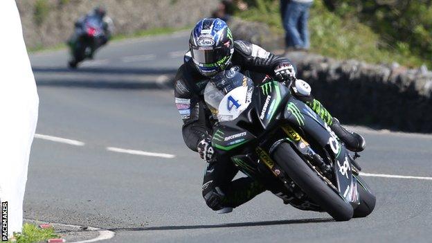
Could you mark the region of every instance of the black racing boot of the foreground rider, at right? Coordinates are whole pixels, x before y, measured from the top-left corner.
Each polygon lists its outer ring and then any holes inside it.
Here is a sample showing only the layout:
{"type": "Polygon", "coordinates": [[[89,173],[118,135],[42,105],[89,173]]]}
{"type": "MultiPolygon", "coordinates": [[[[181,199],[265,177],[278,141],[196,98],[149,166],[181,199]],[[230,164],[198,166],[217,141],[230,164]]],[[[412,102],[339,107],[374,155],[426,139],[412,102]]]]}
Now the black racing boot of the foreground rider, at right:
{"type": "Polygon", "coordinates": [[[351,150],[352,152],[361,152],[365,149],[366,140],[363,138],[363,136],[346,129],[345,127],[342,127],[338,119],[333,118],[330,128],[333,130],[336,136],[341,138],[348,150],[351,150]]]}

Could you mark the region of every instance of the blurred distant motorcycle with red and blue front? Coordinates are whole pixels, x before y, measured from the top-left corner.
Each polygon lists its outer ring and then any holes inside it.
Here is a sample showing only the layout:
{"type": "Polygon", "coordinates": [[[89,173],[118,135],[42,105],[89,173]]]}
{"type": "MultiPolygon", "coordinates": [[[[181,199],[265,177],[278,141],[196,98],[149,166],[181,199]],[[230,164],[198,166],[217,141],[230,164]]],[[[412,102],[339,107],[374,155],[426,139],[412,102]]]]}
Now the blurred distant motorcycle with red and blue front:
{"type": "Polygon", "coordinates": [[[94,51],[107,42],[103,22],[96,17],[87,17],[83,24],[76,26],[75,31],[78,38],[69,43],[71,51],[69,67],[73,69],[86,58],[93,58],[94,51]]]}

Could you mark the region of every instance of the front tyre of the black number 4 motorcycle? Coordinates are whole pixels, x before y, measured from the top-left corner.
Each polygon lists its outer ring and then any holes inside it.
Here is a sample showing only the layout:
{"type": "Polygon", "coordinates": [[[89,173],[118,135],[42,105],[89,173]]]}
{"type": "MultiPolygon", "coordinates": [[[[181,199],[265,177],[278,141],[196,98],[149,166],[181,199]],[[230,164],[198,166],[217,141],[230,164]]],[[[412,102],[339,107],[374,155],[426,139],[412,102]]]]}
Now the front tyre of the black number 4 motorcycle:
{"type": "Polygon", "coordinates": [[[352,218],[352,206],[327,186],[291,145],[281,143],[273,152],[273,157],[288,176],[336,221],[347,221],[352,218]]]}

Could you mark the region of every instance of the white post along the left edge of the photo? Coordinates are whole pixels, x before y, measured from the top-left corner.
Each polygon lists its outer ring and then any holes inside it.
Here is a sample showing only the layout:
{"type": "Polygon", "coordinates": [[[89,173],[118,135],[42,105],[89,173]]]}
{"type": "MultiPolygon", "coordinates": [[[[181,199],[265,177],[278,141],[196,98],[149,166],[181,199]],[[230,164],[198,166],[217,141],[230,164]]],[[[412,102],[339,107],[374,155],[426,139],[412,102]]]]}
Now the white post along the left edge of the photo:
{"type": "Polygon", "coordinates": [[[1,233],[7,228],[11,237],[13,232],[22,230],[28,159],[39,97],[14,0],[0,0],[0,31],[1,233]],[[4,227],[5,208],[8,227],[4,227]]]}

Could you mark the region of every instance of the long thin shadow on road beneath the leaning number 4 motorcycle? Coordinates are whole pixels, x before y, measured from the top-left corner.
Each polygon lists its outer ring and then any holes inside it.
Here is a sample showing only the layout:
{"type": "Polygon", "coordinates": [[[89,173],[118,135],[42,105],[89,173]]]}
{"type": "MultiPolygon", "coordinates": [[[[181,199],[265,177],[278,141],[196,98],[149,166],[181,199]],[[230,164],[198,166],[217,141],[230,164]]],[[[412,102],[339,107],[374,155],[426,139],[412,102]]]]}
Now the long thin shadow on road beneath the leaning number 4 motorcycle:
{"type": "Polygon", "coordinates": [[[183,229],[199,229],[199,228],[234,228],[234,227],[249,227],[249,226],[269,226],[280,224],[311,224],[333,222],[332,218],[317,218],[317,219],[289,219],[276,221],[260,221],[260,222],[243,222],[233,224],[206,224],[206,225],[181,225],[181,226],[156,226],[156,227],[137,227],[137,228],[109,228],[109,231],[173,231],[183,229]]]}

